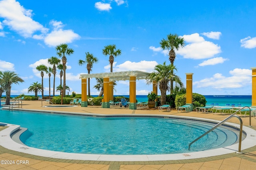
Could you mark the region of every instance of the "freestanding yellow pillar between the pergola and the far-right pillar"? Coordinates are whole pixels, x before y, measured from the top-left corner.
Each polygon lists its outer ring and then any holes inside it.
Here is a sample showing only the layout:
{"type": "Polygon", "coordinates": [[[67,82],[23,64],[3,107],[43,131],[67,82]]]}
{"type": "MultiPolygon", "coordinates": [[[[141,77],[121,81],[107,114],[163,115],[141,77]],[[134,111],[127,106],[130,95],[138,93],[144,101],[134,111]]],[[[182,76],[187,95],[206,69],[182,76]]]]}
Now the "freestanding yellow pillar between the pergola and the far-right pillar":
{"type": "Polygon", "coordinates": [[[192,102],[192,78],[193,73],[186,73],[186,105],[190,106],[190,111],[193,110],[192,102]]]}

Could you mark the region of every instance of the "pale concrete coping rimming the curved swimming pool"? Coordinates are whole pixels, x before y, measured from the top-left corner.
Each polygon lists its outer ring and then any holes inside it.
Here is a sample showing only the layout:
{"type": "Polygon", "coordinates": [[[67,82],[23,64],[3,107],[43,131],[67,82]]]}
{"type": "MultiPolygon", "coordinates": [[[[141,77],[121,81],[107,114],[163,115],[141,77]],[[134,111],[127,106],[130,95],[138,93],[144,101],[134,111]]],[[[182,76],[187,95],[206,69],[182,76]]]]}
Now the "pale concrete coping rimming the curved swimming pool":
{"type": "MultiPolygon", "coordinates": [[[[18,110],[26,110],[26,111],[39,111],[46,113],[61,113],[61,114],[69,114],[69,115],[87,115],[87,116],[98,116],[98,117],[177,117],[184,119],[194,119],[194,120],[204,120],[209,122],[220,122],[213,119],[204,119],[204,118],[196,118],[196,117],[183,117],[183,116],[174,116],[174,115],[138,115],[138,114],[114,114],[114,115],[102,115],[95,113],[77,113],[77,112],[63,112],[63,111],[42,111],[42,110],[31,110],[31,109],[18,109],[18,110]]],[[[7,123],[6,123],[7,124],[7,123]]],[[[230,126],[239,127],[238,124],[227,122],[230,126]]],[[[19,143],[14,142],[10,134],[14,131],[17,131],[20,126],[8,124],[8,128],[0,131],[0,145],[6,149],[14,150],[17,152],[22,152],[26,154],[32,154],[36,156],[43,156],[48,158],[56,158],[56,159],[71,159],[71,160],[84,160],[84,161],[167,161],[167,160],[189,160],[189,159],[198,159],[198,158],[206,158],[211,156],[220,156],[224,154],[235,153],[238,149],[238,143],[228,146],[222,147],[218,149],[206,150],[206,151],[198,151],[198,152],[188,152],[182,154],[156,154],[156,155],[104,155],[104,154],[77,154],[77,153],[66,153],[66,152],[57,152],[43,149],[36,149],[32,147],[28,147],[25,145],[21,145],[19,143]]],[[[250,147],[256,146],[256,131],[251,129],[250,127],[243,126],[243,131],[246,132],[247,137],[242,141],[241,150],[248,149],[250,147]]]]}

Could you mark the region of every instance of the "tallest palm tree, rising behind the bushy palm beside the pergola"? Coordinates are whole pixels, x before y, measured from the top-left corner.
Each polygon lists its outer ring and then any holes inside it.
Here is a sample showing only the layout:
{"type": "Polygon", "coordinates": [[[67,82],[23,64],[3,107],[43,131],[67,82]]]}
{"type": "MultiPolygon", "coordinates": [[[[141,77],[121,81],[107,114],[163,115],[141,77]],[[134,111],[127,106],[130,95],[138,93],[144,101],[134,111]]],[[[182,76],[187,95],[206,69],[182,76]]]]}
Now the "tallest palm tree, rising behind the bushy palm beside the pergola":
{"type": "MultiPolygon", "coordinates": [[[[168,55],[169,55],[169,60],[171,62],[171,65],[173,66],[174,64],[174,60],[176,58],[176,53],[175,53],[175,49],[178,51],[180,49],[180,47],[184,47],[185,42],[184,42],[184,38],[179,37],[177,34],[169,34],[167,35],[167,39],[162,39],[162,41],[160,42],[161,48],[162,49],[168,49],[170,50],[168,55]]],[[[173,72],[171,72],[170,74],[174,74],[173,72]]],[[[171,94],[173,92],[173,81],[171,80],[171,94]]]]}

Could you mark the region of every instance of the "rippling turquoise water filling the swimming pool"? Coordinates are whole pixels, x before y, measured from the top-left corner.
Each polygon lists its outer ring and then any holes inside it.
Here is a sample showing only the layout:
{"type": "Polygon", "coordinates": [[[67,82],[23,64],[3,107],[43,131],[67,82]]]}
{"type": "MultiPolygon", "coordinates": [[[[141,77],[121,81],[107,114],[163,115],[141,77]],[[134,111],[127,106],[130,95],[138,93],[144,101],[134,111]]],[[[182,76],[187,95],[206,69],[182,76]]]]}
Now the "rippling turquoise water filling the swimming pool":
{"type": "Polygon", "coordinates": [[[0,110],[0,121],[28,128],[21,141],[34,148],[86,154],[173,154],[225,147],[235,130],[220,127],[191,146],[214,124],[185,119],[88,117],[0,110]]]}

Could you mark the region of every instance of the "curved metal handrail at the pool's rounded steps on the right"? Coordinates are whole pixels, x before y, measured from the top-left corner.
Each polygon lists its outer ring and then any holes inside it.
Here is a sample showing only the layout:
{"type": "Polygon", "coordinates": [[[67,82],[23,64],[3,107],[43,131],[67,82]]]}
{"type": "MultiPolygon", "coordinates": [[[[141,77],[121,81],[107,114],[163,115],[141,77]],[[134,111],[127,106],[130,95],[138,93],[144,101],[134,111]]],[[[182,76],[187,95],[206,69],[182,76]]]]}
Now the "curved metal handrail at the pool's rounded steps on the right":
{"type": "MultiPolygon", "coordinates": [[[[244,106],[241,109],[239,109],[238,111],[241,111],[244,108],[247,108],[248,106],[244,106]]],[[[249,113],[250,113],[250,125],[251,126],[251,108],[249,108],[249,113]]],[[[222,125],[223,123],[225,123],[226,121],[228,121],[229,119],[231,119],[232,117],[237,117],[240,121],[240,132],[239,132],[239,143],[238,143],[238,154],[241,154],[241,143],[242,143],[242,131],[243,131],[243,121],[242,119],[238,116],[235,115],[238,111],[236,111],[235,113],[233,113],[232,115],[230,115],[229,117],[227,117],[226,119],[224,119],[223,121],[221,121],[220,123],[218,123],[217,125],[215,125],[214,127],[212,127],[212,129],[208,130],[206,133],[204,133],[203,135],[201,135],[200,137],[196,138],[194,141],[192,141],[189,145],[188,145],[188,150],[190,150],[190,146],[195,143],[196,141],[198,141],[199,139],[201,139],[202,137],[204,137],[205,135],[207,135],[208,133],[210,133],[211,131],[213,131],[214,129],[216,129],[217,127],[219,127],[220,125],[222,125]]]]}

